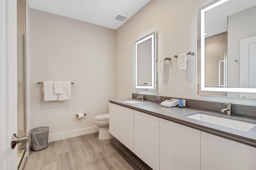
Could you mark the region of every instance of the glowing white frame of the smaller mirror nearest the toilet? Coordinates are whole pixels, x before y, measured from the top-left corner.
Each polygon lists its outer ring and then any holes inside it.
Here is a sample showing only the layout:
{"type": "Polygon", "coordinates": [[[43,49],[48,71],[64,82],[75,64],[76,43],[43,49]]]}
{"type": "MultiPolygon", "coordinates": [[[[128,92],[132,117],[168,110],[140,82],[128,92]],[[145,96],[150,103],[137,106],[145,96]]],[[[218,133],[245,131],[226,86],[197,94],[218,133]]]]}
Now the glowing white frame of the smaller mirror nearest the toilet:
{"type": "Polygon", "coordinates": [[[152,91],[156,91],[156,31],[153,31],[151,33],[149,33],[148,35],[145,35],[144,37],[136,40],[134,42],[134,65],[135,65],[135,90],[146,90],[146,89],[151,89],[152,91]],[[152,86],[138,86],[138,75],[137,75],[137,67],[138,67],[138,63],[137,63],[137,59],[138,59],[138,49],[137,46],[138,44],[148,40],[148,39],[152,39],[151,43],[151,67],[152,67],[152,71],[151,71],[151,83],[152,86]]]}

